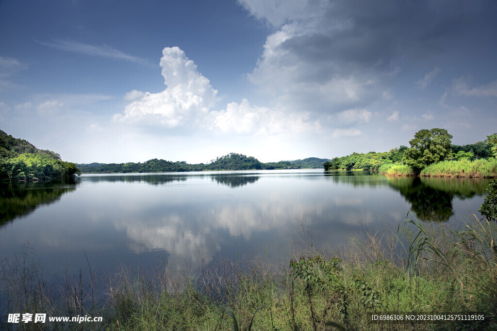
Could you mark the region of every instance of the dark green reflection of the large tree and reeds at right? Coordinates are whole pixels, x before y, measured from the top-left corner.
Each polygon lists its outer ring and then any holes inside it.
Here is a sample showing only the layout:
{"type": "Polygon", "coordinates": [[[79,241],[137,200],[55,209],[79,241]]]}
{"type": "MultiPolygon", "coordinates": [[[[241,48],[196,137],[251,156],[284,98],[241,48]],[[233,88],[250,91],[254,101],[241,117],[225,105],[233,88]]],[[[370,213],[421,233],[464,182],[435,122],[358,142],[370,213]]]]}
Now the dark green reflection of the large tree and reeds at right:
{"type": "Polygon", "coordinates": [[[454,215],[452,200],[482,196],[490,180],[476,178],[387,177],[390,186],[411,203],[423,221],[447,221],[454,215]]]}

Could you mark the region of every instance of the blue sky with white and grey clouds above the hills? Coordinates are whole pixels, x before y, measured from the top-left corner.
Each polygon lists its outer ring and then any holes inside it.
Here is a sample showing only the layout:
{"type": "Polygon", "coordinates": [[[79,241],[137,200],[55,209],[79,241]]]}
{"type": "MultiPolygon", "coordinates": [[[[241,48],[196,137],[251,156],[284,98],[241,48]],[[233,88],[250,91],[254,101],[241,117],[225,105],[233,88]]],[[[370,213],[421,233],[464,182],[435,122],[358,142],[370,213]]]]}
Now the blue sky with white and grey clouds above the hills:
{"type": "Polygon", "coordinates": [[[497,132],[495,0],[0,0],[0,129],[75,163],[497,132]]]}

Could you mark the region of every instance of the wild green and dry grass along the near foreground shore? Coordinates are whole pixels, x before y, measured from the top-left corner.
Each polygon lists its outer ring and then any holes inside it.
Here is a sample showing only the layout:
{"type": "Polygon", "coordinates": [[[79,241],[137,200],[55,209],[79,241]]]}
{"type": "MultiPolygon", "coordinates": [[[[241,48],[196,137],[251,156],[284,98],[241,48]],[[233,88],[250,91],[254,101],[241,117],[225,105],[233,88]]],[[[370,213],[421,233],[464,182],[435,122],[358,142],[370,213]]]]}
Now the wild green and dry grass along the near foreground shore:
{"type": "MultiPolygon", "coordinates": [[[[47,330],[428,330],[432,322],[380,323],[371,314],[477,312],[484,321],[452,329],[497,328],[497,225],[471,219],[460,229],[413,217],[387,234],[353,238],[341,250],[316,250],[302,227],[289,262],[219,260],[200,270],[122,267],[102,276],[64,277],[47,290],[27,247],[3,262],[8,312],[103,316],[100,324],[45,324],[47,330]],[[328,328],[328,329],[327,329],[328,328]]],[[[19,324],[21,330],[41,325],[19,324]]],[[[36,328],[35,328],[36,327],[36,328]]],[[[0,329],[12,324],[2,317],[0,329]]],[[[42,328],[40,328],[42,329],[42,328]]]]}

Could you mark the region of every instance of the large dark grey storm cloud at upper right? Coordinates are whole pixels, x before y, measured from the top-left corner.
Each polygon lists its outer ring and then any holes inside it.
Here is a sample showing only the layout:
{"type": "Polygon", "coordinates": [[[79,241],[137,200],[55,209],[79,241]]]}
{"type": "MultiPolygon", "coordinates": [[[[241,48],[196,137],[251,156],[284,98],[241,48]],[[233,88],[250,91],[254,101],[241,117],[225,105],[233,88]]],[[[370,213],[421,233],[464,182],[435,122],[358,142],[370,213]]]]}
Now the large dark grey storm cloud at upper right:
{"type": "Polygon", "coordinates": [[[488,41],[496,2],[247,0],[252,14],[279,29],[249,79],[288,108],[365,107],[390,96],[397,66],[433,68],[441,65],[430,63],[435,57],[464,63],[495,51],[488,41]]]}

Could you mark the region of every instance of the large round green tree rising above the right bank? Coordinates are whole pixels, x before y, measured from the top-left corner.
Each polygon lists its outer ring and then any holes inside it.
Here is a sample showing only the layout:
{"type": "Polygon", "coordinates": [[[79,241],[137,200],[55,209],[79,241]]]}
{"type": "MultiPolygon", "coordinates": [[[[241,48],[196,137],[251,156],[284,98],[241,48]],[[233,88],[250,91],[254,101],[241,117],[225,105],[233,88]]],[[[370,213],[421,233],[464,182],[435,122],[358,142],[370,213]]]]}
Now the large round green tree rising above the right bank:
{"type": "Polygon", "coordinates": [[[406,164],[419,174],[427,165],[445,160],[451,153],[452,134],[445,129],[422,129],[409,141],[411,148],[404,152],[406,164]]]}

